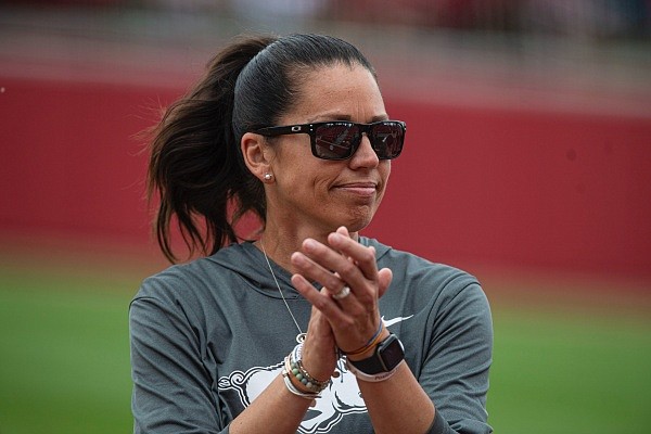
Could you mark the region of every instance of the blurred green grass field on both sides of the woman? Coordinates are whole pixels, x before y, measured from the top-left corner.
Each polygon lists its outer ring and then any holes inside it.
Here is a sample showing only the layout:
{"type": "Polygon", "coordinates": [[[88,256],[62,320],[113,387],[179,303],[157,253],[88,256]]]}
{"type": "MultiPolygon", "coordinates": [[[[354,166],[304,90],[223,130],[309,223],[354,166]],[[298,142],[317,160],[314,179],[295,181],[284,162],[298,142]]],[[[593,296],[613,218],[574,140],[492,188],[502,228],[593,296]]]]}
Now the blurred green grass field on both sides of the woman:
{"type": "MultiPolygon", "coordinates": [[[[144,276],[84,268],[0,266],[0,434],[131,431],[127,307],[144,276]]],[[[648,311],[493,307],[496,433],[650,432],[648,311]]]]}

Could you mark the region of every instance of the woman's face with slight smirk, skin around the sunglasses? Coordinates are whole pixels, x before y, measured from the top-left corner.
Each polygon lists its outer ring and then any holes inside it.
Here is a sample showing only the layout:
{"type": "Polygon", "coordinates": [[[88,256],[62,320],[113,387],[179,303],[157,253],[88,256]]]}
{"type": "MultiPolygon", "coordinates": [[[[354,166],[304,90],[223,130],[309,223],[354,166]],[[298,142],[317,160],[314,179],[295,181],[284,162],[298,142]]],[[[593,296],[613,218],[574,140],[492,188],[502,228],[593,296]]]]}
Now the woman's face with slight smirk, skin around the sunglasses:
{"type": "MultiPolygon", "coordinates": [[[[278,125],[387,118],[371,73],[360,65],[337,64],[308,75],[301,98],[278,125]]],[[[345,161],[314,156],[308,135],[280,136],[271,150],[276,182],[267,191],[268,222],[323,233],[342,225],[352,232],[369,225],[384,195],[391,162],[378,158],[366,135],[345,161]]]]}

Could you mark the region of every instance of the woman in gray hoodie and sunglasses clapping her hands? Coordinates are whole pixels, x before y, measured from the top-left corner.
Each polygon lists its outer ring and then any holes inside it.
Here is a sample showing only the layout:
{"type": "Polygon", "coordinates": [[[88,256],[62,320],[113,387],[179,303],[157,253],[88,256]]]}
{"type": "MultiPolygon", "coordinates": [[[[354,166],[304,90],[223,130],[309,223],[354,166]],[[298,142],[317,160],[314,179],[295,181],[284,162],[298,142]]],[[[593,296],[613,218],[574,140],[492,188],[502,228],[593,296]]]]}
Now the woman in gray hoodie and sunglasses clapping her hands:
{"type": "Polygon", "coordinates": [[[235,40],[168,108],[158,242],[174,261],[174,217],[208,256],[131,303],[137,433],[492,432],[477,281],[359,235],[405,130],[363,55],[316,35],[235,40]]]}

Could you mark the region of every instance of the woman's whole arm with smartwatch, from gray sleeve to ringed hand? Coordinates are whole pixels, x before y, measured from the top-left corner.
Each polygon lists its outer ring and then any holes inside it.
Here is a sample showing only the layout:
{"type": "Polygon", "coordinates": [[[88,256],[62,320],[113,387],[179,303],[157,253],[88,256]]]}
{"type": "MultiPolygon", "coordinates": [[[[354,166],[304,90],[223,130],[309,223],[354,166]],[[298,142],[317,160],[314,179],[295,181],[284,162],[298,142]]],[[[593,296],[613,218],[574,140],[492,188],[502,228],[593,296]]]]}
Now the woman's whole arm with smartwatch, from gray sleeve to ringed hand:
{"type": "MultiPolygon", "coordinates": [[[[372,247],[344,237],[330,237],[329,246],[309,244],[304,244],[302,254],[293,257],[301,273],[334,289],[340,289],[343,280],[353,294],[344,303],[337,303],[331,296],[309,291],[307,279],[301,276],[294,277],[294,285],[328,318],[340,348],[363,345],[374,330],[369,323],[376,324],[373,322],[380,315],[376,301],[386,291],[391,272],[386,278],[387,270],[374,270],[372,247]]],[[[375,432],[490,432],[484,410],[490,365],[490,315],[478,285],[471,286],[465,293],[482,296],[455,297],[454,303],[445,307],[446,311],[432,314],[435,322],[432,327],[436,327],[437,332],[432,333],[427,359],[419,369],[418,379],[403,363],[395,375],[385,381],[358,380],[375,432]],[[463,408],[465,405],[468,409],[463,408]],[[439,413],[439,406],[451,423],[439,413]]],[[[356,357],[368,356],[370,354],[356,357]]]]}

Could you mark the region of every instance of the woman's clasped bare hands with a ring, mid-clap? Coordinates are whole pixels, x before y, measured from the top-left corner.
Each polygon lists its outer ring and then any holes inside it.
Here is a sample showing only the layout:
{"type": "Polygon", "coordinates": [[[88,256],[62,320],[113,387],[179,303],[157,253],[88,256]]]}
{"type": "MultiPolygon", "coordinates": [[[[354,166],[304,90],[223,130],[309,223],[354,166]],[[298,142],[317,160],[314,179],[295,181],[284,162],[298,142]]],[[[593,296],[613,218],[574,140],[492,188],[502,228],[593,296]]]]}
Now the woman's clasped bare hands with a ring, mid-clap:
{"type": "Polygon", "coordinates": [[[292,284],[312,305],[304,362],[317,378],[330,376],[337,349],[363,347],[380,327],[378,301],[392,271],[378,270],[375,248],[358,243],[345,227],[328,235],[328,245],[306,239],[291,260],[296,270],[292,284]],[[321,291],[315,291],[312,281],[321,291]]]}

